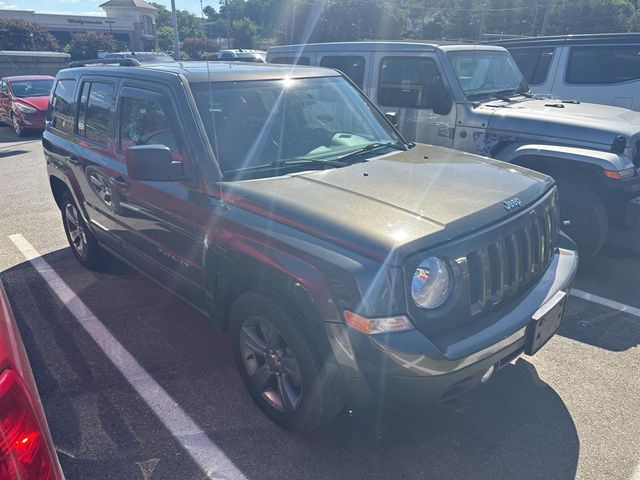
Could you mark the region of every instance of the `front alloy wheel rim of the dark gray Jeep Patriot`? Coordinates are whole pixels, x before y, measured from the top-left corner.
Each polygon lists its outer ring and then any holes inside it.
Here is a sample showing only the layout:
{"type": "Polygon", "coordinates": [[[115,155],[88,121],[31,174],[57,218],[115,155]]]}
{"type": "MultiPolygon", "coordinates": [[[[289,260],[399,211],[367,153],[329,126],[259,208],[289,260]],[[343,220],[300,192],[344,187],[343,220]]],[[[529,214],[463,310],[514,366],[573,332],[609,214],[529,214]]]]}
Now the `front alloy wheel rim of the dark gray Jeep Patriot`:
{"type": "Polygon", "coordinates": [[[251,384],[281,412],[302,403],[300,366],[282,333],[266,318],[249,317],[240,330],[240,349],[251,384]]]}

